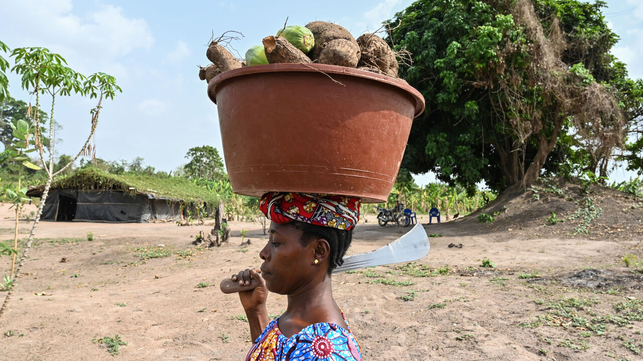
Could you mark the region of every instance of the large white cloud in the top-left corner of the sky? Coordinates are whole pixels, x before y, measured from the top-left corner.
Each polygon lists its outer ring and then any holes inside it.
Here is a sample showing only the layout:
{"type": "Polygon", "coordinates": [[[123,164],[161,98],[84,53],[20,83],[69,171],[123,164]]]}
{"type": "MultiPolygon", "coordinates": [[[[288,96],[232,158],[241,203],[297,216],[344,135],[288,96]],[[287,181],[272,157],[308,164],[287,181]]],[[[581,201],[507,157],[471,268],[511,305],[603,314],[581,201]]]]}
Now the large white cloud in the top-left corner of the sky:
{"type": "Polygon", "coordinates": [[[69,0],[10,1],[3,4],[0,24],[9,46],[46,46],[83,73],[103,71],[132,50],[154,44],[144,19],[129,18],[113,5],[80,17],[69,0]]]}

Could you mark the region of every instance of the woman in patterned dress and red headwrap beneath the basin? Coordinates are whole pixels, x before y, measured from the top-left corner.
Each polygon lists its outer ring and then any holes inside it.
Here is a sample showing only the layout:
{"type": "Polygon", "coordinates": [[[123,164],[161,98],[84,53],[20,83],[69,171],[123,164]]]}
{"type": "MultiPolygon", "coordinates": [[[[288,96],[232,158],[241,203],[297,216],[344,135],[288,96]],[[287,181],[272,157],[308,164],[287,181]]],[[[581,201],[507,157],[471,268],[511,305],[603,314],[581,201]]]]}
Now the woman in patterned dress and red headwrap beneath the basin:
{"type": "Polygon", "coordinates": [[[247,361],[360,361],[359,345],[332,297],[331,271],[343,263],[359,220],[359,198],[266,193],[259,207],[271,220],[260,269],[233,275],[255,340],[247,361]],[[268,291],[288,296],[281,317],[269,321],[268,291]]]}

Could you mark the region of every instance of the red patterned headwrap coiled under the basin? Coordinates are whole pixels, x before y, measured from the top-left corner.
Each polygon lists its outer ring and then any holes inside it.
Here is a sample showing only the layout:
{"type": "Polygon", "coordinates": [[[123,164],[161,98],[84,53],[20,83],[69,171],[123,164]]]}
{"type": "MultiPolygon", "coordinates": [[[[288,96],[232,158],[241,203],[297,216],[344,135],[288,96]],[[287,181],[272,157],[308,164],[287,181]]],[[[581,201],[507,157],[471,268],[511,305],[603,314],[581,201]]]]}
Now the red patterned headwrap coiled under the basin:
{"type": "Polygon", "coordinates": [[[358,197],[318,193],[269,192],[259,201],[259,209],[278,224],[298,220],[338,229],[353,229],[359,221],[358,197]]]}

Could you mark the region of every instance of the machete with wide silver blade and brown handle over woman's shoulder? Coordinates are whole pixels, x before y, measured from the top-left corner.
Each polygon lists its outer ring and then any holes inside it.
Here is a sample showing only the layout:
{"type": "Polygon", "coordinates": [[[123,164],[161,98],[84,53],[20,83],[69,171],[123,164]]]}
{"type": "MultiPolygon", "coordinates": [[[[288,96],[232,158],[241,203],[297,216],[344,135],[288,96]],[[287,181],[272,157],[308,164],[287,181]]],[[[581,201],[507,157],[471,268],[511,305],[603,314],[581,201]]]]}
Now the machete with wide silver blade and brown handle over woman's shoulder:
{"type": "MultiPolygon", "coordinates": [[[[343,265],[332,270],[332,273],[419,260],[428,254],[430,247],[429,237],[424,227],[418,223],[406,234],[380,249],[344,257],[343,265]]],[[[239,286],[239,281],[226,278],[219,286],[224,294],[232,294],[254,289],[257,281],[251,279],[249,285],[239,286]]]]}

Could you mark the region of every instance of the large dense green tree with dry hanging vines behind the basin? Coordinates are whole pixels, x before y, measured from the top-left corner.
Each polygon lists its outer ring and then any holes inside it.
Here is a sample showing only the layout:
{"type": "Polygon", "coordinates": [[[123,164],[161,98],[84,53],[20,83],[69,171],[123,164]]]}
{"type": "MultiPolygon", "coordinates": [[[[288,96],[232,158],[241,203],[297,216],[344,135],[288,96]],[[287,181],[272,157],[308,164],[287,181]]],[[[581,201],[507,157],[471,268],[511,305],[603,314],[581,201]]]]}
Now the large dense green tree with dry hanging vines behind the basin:
{"type": "Polygon", "coordinates": [[[421,0],[397,13],[387,40],[412,53],[400,76],[426,98],[401,172],[498,191],[570,172],[570,162],[607,172],[624,140],[627,73],[609,53],[618,37],[604,6],[421,0]]]}

